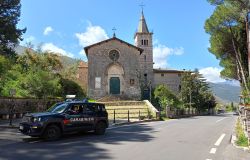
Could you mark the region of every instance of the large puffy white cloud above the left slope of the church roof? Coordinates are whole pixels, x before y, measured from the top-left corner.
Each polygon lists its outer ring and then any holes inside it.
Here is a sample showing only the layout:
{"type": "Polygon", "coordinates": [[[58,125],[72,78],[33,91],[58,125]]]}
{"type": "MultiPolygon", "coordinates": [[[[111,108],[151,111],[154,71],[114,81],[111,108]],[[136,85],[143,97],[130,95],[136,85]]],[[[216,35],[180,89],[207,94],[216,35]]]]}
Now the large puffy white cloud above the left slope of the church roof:
{"type": "MultiPolygon", "coordinates": [[[[108,35],[102,27],[93,26],[90,22],[85,32],[76,33],[75,36],[78,39],[79,45],[81,47],[86,47],[88,45],[108,39],[108,35]]],[[[85,55],[84,50],[81,50],[80,54],[85,55]]]]}

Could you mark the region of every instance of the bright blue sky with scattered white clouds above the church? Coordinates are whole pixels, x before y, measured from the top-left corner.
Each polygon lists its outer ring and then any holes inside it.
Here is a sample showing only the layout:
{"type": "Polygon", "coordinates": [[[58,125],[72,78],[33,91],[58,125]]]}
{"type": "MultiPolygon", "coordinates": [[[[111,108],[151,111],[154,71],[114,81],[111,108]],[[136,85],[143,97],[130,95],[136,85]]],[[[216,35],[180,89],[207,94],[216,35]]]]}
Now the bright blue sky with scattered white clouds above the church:
{"type": "Polygon", "coordinates": [[[32,43],[87,61],[84,47],[116,37],[134,44],[141,6],[153,34],[155,68],[199,69],[210,82],[225,82],[208,52],[204,30],[215,9],[206,0],[21,0],[18,28],[27,28],[21,45],[32,43]]]}

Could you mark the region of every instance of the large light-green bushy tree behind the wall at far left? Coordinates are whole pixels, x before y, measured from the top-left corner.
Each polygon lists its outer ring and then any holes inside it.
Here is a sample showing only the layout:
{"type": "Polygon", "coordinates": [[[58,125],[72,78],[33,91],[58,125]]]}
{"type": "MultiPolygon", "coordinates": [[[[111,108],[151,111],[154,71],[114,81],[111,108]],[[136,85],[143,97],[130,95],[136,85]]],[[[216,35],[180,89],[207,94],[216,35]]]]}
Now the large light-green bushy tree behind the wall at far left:
{"type": "Polygon", "coordinates": [[[9,65],[8,71],[2,76],[1,95],[9,96],[9,90],[15,88],[17,97],[61,96],[61,77],[58,74],[61,62],[57,55],[28,49],[23,55],[17,56],[16,62],[9,65]]]}

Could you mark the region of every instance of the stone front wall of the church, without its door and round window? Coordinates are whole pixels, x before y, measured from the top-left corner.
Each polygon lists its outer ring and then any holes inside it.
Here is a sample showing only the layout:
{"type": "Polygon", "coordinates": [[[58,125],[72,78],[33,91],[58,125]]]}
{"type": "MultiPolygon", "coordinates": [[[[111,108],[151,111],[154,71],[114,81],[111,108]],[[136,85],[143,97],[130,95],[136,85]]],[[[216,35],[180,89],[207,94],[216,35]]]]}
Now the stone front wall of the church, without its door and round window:
{"type": "Polygon", "coordinates": [[[111,40],[88,50],[88,96],[94,99],[109,95],[109,78],[120,78],[121,96],[130,99],[140,99],[140,51],[118,40],[111,40]],[[119,52],[119,59],[112,61],[109,57],[111,50],[119,52]],[[123,72],[119,75],[109,75],[112,66],[119,66],[123,72]],[[100,83],[100,87],[96,86],[100,83]],[[132,82],[132,83],[131,83],[132,82]]]}

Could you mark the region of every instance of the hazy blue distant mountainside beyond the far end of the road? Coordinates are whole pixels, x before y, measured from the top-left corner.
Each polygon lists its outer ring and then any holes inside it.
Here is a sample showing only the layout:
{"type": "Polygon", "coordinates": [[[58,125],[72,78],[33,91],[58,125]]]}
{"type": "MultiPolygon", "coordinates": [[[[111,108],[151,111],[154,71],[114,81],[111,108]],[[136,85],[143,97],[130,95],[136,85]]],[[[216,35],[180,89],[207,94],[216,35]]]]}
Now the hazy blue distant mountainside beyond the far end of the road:
{"type": "Polygon", "coordinates": [[[240,86],[233,86],[228,83],[209,83],[209,86],[219,102],[239,102],[240,86]]]}

